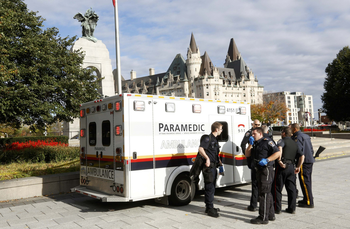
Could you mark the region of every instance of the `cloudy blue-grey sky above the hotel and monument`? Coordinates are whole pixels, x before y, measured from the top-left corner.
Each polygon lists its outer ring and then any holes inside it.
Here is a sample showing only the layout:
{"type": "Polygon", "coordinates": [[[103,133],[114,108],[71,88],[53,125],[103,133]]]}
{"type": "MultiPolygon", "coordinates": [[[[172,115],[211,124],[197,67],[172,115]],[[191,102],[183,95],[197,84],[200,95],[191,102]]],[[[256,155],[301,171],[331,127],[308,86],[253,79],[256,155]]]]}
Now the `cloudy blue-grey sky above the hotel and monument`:
{"type": "MultiPolygon", "coordinates": [[[[60,35],[81,36],[73,16],[92,7],[99,15],[95,37],[107,46],[116,68],[112,0],[25,0],[60,35]]],[[[204,54],[223,67],[234,38],[265,91],[299,91],[322,107],[324,69],[349,45],[348,1],[119,0],[121,74],[130,79],[167,71],[177,53],[186,58],[191,32],[204,54]]],[[[317,116],[316,116],[317,117],[317,116]]],[[[317,118],[316,118],[317,119],[317,118]]]]}

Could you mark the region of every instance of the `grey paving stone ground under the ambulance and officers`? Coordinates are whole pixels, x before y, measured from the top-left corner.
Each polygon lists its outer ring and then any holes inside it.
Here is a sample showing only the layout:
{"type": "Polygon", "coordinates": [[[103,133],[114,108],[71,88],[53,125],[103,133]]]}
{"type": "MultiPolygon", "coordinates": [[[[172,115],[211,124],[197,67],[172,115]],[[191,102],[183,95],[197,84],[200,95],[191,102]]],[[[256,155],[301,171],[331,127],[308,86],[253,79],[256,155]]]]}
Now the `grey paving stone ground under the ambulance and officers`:
{"type": "MultiPolygon", "coordinates": [[[[282,210],[267,225],[250,223],[258,213],[247,210],[250,185],[243,185],[216,189],[214,207],[219,207],[221,213],[218,218],[204,214],[201,192],[182,207],[153,200],[103,203],[78,193],[65,193],[0,203],[0,228],[350,228],[349,165],[350,156],[317,160],[312,177],[315,208],[297,207],[295,215],[282,210]]],[[[286,207],[284,190],[282,209],[286,207]]]]}

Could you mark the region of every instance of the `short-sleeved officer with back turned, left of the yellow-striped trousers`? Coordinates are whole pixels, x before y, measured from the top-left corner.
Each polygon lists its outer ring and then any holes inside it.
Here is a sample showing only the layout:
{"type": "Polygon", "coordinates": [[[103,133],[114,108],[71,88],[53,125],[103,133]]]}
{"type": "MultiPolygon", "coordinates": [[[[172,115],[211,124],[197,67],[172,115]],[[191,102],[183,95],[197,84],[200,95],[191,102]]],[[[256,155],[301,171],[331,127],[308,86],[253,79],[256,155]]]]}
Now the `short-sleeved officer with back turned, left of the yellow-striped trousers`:
{"type": "Polygon", "coordinates": [[[281,214],[283,185],[286,187],[288,196],[288,208],[286,208],[286,212],[295,214],[295,174],[299,173],[300,171],[300,166],[304,161],[304,155],[298,145],[292,140],[292,138],[290,138],[291,136],[292,130],[285,127],[281,132],[282,139],[277,142],[277,147],[282,152],[282,156],[280,156],[277,160],[278,163],[275,166],[275,178],[271,189],[275,214],[281,214]],[[294,169],[294,159],[296,158],[299,158],[299,162],[294,169]]]}

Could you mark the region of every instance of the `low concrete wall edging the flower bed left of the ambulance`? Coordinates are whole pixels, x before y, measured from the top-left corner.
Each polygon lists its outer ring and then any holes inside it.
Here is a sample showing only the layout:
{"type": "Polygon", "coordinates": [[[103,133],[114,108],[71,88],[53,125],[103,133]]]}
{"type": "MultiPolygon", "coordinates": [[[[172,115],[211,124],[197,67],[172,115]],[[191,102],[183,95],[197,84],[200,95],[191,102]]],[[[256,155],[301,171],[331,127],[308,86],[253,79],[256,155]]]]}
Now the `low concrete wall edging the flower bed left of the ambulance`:
{"type": "Polygon", "coordinates": [[[79,172],[0,181],[0,201],[70,192],[79,185],[79,172]]]}

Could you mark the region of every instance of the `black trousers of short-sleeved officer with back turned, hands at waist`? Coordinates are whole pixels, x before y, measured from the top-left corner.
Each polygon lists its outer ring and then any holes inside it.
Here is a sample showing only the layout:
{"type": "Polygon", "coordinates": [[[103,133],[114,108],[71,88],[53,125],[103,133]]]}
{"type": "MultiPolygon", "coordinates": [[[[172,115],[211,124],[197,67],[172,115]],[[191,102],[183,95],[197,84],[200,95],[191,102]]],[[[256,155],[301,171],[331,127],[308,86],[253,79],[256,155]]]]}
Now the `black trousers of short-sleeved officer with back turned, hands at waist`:
{"type": "Polygon", "coordinates": [[[296,207],[296,177],[294,174],[294,165],[288,164],[288,167],[283,169],[277,165],[275,168],[275,178],[272,183],[271,194],[273,198],[273,207],[275,211],[282,209],[282,190],[283,185],[286,187],[288,196],[288,208],[295,211],[296,207]]]}

